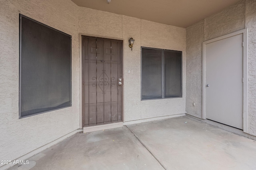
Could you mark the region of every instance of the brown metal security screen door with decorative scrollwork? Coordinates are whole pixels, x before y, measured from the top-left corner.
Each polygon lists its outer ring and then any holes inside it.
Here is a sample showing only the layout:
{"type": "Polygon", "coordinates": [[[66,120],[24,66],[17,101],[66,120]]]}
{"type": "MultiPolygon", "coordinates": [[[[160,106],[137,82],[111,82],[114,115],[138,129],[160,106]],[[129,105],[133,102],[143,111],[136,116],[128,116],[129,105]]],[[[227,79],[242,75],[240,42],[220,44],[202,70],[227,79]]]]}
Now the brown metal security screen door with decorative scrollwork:
{"type": "Polygon", "coordinates": [[[82,36],[83,126],[122,121],[122,41],[82,36]]]}

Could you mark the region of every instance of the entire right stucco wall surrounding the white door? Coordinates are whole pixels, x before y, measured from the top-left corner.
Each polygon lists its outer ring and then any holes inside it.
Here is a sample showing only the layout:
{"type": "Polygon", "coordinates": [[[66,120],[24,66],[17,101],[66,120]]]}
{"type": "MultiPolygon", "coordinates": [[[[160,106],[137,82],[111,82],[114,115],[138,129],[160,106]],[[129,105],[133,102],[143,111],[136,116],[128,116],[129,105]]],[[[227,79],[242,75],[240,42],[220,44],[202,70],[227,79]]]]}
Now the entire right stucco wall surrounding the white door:
{"type": "Polygon", "coordinates": [[[248,133],[256,136],[255,27],[256,1],[242,0],[186,28],[186,113],[202,118],[202,42],[248,28],[248,133]]]}

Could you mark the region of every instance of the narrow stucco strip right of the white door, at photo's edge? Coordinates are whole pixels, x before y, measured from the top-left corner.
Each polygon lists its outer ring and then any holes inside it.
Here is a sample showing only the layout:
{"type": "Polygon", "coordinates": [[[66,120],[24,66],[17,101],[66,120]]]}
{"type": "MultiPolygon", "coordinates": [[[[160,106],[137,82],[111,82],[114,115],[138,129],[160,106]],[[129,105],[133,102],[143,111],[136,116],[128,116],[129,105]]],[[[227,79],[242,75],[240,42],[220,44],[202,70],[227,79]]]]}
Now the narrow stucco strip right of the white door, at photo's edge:
{"type": "Polygon", "coordinates": [[[256,1],[246,0],[248,28],[248,132],[256,136],[256,1]]]}

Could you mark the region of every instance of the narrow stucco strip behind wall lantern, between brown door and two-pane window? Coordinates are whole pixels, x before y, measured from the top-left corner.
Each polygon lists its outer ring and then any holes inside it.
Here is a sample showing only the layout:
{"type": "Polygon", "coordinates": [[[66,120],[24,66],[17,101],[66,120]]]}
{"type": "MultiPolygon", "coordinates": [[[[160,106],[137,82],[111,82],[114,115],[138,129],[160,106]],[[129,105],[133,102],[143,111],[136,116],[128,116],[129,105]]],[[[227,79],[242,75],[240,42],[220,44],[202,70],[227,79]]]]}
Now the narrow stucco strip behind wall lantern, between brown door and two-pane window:
{"type": "Polygon", "coordinates": [[[124,39],[124,121],[141,119],[140,101],[140,44],[141,20],[123,16],[122,35],[124,39]],[[130,29],[132,25],[133,29],[130,29]],[[132,51],[128,39],[134,38],[132,51]],[[130,73],[128,73],[130,70],[130,73]]]}

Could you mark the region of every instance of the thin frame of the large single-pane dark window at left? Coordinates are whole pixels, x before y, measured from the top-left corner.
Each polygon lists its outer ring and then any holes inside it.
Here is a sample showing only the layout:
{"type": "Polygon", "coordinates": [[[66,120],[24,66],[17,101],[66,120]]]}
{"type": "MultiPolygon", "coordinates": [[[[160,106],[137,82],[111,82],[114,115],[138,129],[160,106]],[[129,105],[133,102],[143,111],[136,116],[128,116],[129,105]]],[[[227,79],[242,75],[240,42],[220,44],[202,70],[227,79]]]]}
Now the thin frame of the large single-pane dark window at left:
{"type": "Polygon", "coordinates": [[[59,110],[59,109],[64,109],[66,107],[71,107],[72,106],[72,36],[67,34],[67,33],[64,33],[58,29],[55,29],[53,27],[50,27],[44,23],[41,23],[39,21],[36,21],[36,20],[33,20],[32,18],[29,18],[27,16],[24,16],[22,14],[19,14],[19,119],[22,119],[22,118],[25,118],[25,117],[30,117],[30,116],[34,116],[34,115],[39,115],[39,114],[42,114],[42,113],[47,113],[47,112],[50,112],[50,111],[55,111],[55,110],[59,110]],[[31,21],[34,21],[40,25],[43,25],[45,27],[48,27],[50,29],[53,29],[54,31],[57,31],[59,33],[62,33],[68,37],[70,37],[70,106],[65,106],[65,107],[60,107],[60,108],[57,108],[57,109],[52,109],[52,110],[48,110],[48,111],[42,111],[40,113],[34,113],[34,114],[31,114],[31,115],[26,115],[26,116],[22,116],[21,115],[21,87],[22,87],[22,18],[26,18],[28,20],[31,20],[31,21]]]}

